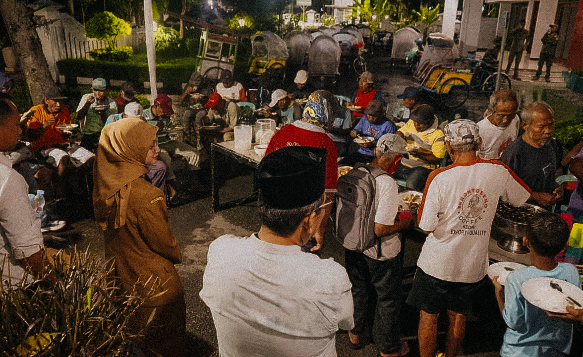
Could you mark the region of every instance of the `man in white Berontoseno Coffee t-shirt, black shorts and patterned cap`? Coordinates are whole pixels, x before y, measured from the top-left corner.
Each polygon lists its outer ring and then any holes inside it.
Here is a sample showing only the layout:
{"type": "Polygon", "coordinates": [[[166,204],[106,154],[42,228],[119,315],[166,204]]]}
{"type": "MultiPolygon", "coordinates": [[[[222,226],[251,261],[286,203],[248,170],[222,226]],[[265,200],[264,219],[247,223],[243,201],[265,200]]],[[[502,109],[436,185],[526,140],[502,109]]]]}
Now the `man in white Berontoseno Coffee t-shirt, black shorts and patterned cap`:
{"type": "Polygon", "coordinates": [[[505,164],[477,157],[481,143],[475,122],[455,120],[445,128],[454,163],[430,174],[419,207],[419,227],[429,236],[407,303],[421,310],[421,357],[435,356],[437,319],[444,310],[449,317],[445,356],[456,355],[473,295],[486,276],[498,198],[519,206],[531,195],[505,164]]]}

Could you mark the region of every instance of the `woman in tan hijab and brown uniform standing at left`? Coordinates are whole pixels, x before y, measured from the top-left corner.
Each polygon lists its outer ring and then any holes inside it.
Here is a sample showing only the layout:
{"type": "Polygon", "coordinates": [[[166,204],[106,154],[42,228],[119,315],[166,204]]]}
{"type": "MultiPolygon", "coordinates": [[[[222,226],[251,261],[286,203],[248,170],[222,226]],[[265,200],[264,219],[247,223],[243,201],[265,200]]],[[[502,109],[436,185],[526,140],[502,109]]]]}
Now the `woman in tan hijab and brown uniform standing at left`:
{"type": "Polygon", "coordinates": [[[144,178],[146,164],[156,162],[160,151],[156,132],[156,127],[139,118],[103,128],[93,169],[93,207],[104,230],[106,258],[115,259],[122,288],[129,290],[139,281],[140,288],[148,291],[154,279],[159,279],[163,285],[154,293],[166,290],[138,311],[133,327],[144,329],[139,346],[148,356],[155,352],[182,357],[186,306],[174,268],[181,262],[180,247],[168,226],[163,192],[144,178]],[[154,309],[154,318],[147,324],[154,309]]]}

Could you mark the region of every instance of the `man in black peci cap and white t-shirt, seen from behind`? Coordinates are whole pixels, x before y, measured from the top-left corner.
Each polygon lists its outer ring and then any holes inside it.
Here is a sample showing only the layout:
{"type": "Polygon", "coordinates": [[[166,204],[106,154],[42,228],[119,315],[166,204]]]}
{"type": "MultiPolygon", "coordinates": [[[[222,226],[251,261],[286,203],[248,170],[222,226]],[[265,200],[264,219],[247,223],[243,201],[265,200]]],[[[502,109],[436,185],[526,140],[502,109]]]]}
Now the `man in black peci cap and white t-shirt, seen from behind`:
{"type": "Polygon", "coordinates": [[[259,233],[210,244],[200,296],[220,356],[335,357],[336,331],[354,327],[346,270],[301,251],[332,203],[325,179],[326,149],[275,150],[257,173],[259,233]]]}

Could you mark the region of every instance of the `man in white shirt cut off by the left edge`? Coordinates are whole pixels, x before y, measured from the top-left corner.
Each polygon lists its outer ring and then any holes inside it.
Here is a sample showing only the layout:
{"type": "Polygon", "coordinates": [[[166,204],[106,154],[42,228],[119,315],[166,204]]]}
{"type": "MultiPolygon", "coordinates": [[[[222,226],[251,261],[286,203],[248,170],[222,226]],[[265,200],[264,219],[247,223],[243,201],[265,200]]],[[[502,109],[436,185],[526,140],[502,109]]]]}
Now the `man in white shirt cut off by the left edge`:
{"type": "Polygon", "coordinates": [[[5,259],[2,281],[17,285],[24,269],[34,275],[43,272],[41,222],[33,216],[24,177],[12,169],[12,159],[4,152],[19,142],[20,115],[12,101],[0,99],[0,261],[5,259]]]}

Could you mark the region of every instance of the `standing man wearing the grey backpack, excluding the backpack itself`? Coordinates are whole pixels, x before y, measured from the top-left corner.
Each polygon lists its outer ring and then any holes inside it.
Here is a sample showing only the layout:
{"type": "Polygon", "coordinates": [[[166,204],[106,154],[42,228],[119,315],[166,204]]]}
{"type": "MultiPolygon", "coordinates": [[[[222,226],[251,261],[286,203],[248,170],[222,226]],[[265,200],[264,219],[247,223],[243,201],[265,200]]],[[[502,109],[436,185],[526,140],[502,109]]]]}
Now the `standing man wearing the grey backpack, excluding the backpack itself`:
{"type": "MultiPolygon", "coordinates": [[[[381,240],[363,253],[345,249],[346,271],[352,283],[354,299],[354,328],[348,332],[350,347],[359,349],[367,339],[368,327],[371,340],[381,357],[398,357],[409,352],[406,342],[399,340],[401,314],[401,240],[399,230],[410,226],[411,217],[395,222],[398,213],[398,187],[389,174],[396,170],[407,142],[395,134],[382,135],[374,150],[372,167],[387,174],[377,176],[374,199],[374,233],[381,240]],[[374,296],[369,291],[374,290],[374,296]],[[370,306],[374,301],[374,306],[370,306]],[[374,311],[374,313],[372,313],[374,311]]],[[[360,167],[359,170],[366,170],[360,167]]],[[[354,217],[355,221],[361,217],[354,217]]]]}

